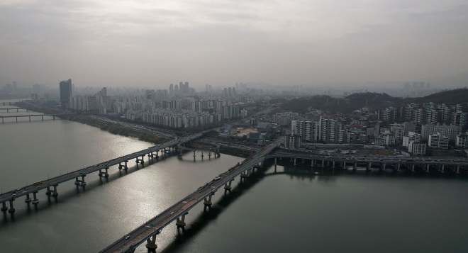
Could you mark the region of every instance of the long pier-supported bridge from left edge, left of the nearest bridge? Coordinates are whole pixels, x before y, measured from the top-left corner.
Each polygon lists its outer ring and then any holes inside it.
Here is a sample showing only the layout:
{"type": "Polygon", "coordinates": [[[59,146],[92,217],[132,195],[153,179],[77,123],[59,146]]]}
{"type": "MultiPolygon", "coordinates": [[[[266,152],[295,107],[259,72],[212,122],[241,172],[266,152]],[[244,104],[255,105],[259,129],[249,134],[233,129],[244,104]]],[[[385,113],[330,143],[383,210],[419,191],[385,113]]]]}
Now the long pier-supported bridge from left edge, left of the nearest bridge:
{"type": "Polygon", "coordinates": [[[85,176],[87,176],[87,174],[91,174],[91,173],[99,171],[99,176],[107,177],[109,167],[118,164],[118,169],[128,169],[127,164],[130,161],[130,159],[135,159],[135,162],[137,164],[144,164],[145,156],[149,157],[150,159],[157,158],[158,152],[165,152],[166,149],[171,149],[171,148],[175,149],[177,145],[179,145],[180,143],[195,140],[196,138],[201,137],[203,133],[204,132],[198,133],[196,135],[183,137],[179,140],[171,140],[169,142],[165,142],[160,145],[149,147],[146,150],[141,150],[138,152],[134,152],[132,154],[127,154],[123,157],[111,159],[106,162],[101,162],[99,164],[86,167],[84,169],[78,169],[74,172],[69,172],[67,174],[56,176],[52,179],[38,181],[34,183],[33,185],[20,187],[16,190],[2,193],[0,194],[0,203],[1,203],[0,210],[4,212],[8,210],[9,213],[14,213],[15,208],[13,207],[13,201],[15,201],[17,198],[21,196],[26,196],[26,199],[25,199],[26,203],[32,202],[33,204],[37,204],[39,203],[38,198],[37,198],[37,193],[38,191],[41,191],[43,189],[46,189],[45,194],[47,194],[48,196],[57,196],[58,195],[57,186],[66,181],[75,180],[74,184],[79,185],[79,186],[85,186],[86,181],[84,181],[84,178],[85,176]],[[33,196],[33,198],[30,198],[31,195],[33,196]],[[9,202],[9,208],[6,206],[6,202],[9,202]]]}

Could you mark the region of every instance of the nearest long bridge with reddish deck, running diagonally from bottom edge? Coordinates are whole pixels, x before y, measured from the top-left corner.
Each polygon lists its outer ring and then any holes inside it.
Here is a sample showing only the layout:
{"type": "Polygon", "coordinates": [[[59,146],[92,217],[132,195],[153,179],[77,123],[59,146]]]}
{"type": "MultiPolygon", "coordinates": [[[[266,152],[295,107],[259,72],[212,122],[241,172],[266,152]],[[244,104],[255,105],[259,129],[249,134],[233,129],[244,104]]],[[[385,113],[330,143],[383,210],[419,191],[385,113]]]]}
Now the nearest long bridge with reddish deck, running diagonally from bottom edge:
{"type": "Polygon", "coordinates": [[[257,168],[257,165],[260,162],[263,162],[266,155],[269,154],[269,152],[272,152],[277,145],[279,145],[279,142],[274,142],[267,147],[264,147],[264,149],[257,152],[257,154],[252,154],[242,163],[239,163],[227,172],[216,176],[209,183],[199,187],[199,189],[196,189],[194,193],[191,193],[189,196],[186,196],[186,198],[183,198],[173,206],[167,208],[159,215],[148,220],[147,223],[140,225],[140,227],[101,250],[101,252],[135,252],[135,249],[145,242],[148,249],[156,249],[156,237],[164,227],[167,227],[167,225],[174,221],[176,221],[177,227],[184,227],[186,225],[185,215],[189,214],[189,210],[191,210],[191,208],[194,208],[196,204],[201,202],[203,202],[205,206],[211,206],[211,197],[216,193],[216,191],[218,191],[218,189],[223,187],[225,190],[230,190],[231,182],[236,176],[240,176],[241,178],[249,177],[252,170],[257,168]]]}

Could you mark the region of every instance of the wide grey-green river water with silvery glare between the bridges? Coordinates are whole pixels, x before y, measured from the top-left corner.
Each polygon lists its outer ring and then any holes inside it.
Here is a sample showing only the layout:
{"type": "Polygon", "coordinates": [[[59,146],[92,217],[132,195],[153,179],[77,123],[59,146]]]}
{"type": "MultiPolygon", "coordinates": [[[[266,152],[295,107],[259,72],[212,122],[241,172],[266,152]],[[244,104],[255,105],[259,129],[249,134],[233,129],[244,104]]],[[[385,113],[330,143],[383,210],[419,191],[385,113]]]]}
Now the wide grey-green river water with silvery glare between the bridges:
{"type": "MultiPolygon", "coordinates": [[[[0,187],[16,189],[150,145],[67,120],[5,120],[0,187]]],[[[111,167],[108,179],[87,176],[85,189],[60,184],[57,198],[40,191],[37,209],[18,198],[14,215],[1,214],[0,252],[97,252],[242,160],[146,158],[145,167],[130,162],[127,172],[111,167]]],[[[467,252],[466,179],[310,170],[283,160],[276,170],[267,164],[246,181],[237,178],[233,191],[216,193],[211,210],[191,210],[185,231],[162,230],[157,252],[467,252]]],[[[144,244],[137,252],[147,252],[144,244]]]]}

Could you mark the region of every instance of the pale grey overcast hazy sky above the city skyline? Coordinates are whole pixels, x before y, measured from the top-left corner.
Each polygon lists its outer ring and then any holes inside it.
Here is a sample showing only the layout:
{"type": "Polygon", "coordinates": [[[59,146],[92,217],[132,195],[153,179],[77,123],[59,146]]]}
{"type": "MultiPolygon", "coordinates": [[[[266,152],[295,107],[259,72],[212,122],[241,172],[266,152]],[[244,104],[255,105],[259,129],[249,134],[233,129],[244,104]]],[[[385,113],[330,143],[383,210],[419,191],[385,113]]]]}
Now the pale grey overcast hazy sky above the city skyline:
{"type": "Polygon", "coordinates": [[[292,85],[467,70],[466,0],[0,0],[0,84],[292,85]]]}

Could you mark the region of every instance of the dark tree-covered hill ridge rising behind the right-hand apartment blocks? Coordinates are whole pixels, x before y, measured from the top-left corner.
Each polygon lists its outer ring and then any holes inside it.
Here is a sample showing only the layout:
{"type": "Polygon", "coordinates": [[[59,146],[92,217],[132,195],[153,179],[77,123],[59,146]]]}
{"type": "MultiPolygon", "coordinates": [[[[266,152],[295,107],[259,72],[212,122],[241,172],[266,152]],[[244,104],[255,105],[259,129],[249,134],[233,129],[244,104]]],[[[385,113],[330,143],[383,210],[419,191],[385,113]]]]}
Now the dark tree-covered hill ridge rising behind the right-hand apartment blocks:
{"type": "Polygon", "coordinates": [[[422,98],[400,99],[388,94],[378,93],[356,93],[346,96],[343,99],[333,99],[330,96],[308,96],[285,101],[282,111],[292,111],[296,113],[307,113],[308,108],[313,110],[323,110],[330,113],[351,113],[359,108],[369,106],[371,108],[386,108],[388,106],[400,107],[406,103],[445,103],[447,106],[457,103],[466,106],[468,103],[468,89],[454,89],[441,91],[422,98]]]}

